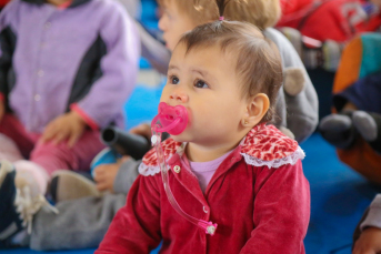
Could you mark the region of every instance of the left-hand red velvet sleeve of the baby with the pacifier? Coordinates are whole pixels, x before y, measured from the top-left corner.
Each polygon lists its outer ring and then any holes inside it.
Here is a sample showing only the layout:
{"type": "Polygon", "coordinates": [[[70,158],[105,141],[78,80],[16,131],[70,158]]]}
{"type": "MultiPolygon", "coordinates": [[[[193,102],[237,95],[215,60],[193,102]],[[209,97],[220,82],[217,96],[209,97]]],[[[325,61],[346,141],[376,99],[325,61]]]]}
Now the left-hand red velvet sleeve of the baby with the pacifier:
{"type": "Polygon", "coordinates": [[[156,176],[139,175],[96,253],[150,253],[160,241],[158,183],[156,176]]]}

